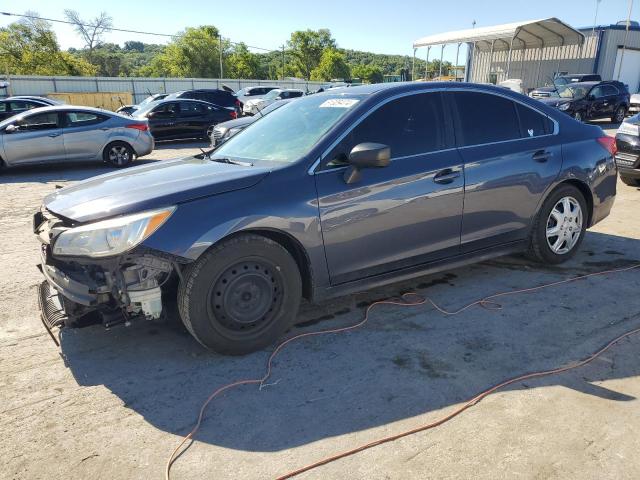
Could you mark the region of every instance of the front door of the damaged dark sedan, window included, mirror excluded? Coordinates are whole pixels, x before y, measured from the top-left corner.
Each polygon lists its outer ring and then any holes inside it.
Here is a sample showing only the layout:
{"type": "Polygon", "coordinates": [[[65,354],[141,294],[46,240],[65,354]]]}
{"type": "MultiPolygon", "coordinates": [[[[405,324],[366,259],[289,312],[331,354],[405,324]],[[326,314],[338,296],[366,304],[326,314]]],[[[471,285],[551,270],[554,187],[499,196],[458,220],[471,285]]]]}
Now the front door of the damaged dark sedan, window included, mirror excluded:
{"type": "Polygon", "coordinates": [[[441,93],[393,99],[330,149],[315,173],[332,285],[458,253],[464,173],[441,93]],[[345,162],[363,142],[391,148],[384,168],[347,184],[345,162]]]}

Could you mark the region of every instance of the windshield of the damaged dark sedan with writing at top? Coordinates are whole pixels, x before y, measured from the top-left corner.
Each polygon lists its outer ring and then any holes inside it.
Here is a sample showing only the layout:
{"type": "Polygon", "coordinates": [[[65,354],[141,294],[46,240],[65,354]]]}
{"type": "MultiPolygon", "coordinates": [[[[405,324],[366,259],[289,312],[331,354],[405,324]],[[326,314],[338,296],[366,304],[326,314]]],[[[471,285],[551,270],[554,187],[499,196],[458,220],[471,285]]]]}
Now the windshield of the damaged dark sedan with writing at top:
{"type": "Polygon", "coordinates": [[[295,162],[359,101],[356,96],[314,95],[287,103],[223,143],[214,158],[295,162]]]}

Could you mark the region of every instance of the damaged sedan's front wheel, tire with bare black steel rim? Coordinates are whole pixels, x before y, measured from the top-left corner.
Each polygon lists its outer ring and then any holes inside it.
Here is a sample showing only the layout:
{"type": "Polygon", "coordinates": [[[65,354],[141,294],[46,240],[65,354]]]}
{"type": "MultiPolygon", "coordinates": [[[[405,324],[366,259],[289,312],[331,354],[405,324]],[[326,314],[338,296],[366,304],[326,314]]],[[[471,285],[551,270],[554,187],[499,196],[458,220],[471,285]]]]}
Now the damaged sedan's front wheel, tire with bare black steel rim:
{"type": "Polygon", "coordinates": [[[293,324],[301,283],[282,245],[243,234],[215,245],[183,272],[178,310],[203,346],[244,355],[272,344],[293,324]]]}

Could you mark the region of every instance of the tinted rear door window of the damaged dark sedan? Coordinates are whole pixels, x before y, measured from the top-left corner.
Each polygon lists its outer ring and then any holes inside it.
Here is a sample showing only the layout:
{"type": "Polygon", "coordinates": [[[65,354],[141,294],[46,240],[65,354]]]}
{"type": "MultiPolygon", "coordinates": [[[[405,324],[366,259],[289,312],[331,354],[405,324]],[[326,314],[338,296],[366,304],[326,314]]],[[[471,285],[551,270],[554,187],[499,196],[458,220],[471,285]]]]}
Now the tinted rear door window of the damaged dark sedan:
{"type": "Polygon", "coordinates": [[[454,92],[460,131],[460,144],[481,145],[520,138],[515,102],[499,95],[454,92]],[[491,112],[491,121],[487,114],[491,112]]]}

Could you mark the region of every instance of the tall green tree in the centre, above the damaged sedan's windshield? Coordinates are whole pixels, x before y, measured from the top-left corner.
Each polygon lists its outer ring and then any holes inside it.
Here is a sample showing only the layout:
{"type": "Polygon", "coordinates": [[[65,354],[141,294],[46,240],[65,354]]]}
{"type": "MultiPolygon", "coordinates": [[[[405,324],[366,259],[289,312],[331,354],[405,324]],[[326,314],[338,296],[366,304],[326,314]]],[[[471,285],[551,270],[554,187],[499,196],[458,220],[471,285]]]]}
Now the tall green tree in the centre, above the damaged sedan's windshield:
{"type": "Polygon", "coordinates": [[[311,72],[320,64],[325,49],[336,48],[336,41],[326,28],[293,32],[287,44],[295,72],[305,80],[311,78],[311,72]]]}

